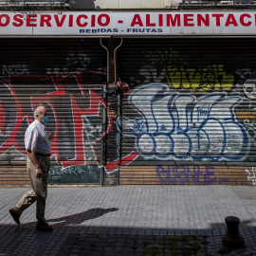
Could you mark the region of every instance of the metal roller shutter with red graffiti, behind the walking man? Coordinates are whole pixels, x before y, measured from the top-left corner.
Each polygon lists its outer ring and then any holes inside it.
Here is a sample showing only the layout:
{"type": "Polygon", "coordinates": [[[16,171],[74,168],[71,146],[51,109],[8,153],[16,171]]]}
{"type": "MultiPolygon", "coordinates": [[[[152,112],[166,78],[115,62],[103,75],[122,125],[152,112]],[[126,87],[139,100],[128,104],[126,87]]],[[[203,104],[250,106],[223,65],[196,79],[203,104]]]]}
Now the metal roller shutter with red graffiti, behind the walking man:
{"type": "Polygon", "coordinates": [[[0,185],[27,184],[24,134],[38,104],[54,137],[49,183],[100,183],[99,39],[1,39],[0,56],[0,185]]]}

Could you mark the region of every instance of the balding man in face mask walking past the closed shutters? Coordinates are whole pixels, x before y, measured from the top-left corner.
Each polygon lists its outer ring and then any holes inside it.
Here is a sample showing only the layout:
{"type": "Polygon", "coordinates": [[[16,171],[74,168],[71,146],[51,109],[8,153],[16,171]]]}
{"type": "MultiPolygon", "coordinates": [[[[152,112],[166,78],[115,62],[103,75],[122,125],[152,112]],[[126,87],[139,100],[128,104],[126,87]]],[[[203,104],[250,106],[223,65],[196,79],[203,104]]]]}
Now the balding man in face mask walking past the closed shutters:
{"type": "Polygon", "coordinates": [[[26,192],[17,205],[9,210],[19,225],[24,210],[36,201],[37,230],[52,231],[45,218],[47,176],[50,165],[51,134],[46,132],[47,111],[39,106],[34,111],[35,120],[27,127],[25,147],[27,151],[27,172],[32,191],[26,192]]]}

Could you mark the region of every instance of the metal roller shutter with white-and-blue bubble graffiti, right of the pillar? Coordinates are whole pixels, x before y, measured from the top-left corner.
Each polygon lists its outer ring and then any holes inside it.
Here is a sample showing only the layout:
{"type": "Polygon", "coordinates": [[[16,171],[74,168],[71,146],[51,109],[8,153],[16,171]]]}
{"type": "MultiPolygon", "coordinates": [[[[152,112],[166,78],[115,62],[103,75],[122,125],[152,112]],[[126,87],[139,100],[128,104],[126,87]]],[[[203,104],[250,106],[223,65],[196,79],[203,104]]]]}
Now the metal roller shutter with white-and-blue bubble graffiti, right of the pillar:
{"type": "Polygon", "coordinates": [[[123,41],[120,184],[255,184],[255,43],[123,41]]]}

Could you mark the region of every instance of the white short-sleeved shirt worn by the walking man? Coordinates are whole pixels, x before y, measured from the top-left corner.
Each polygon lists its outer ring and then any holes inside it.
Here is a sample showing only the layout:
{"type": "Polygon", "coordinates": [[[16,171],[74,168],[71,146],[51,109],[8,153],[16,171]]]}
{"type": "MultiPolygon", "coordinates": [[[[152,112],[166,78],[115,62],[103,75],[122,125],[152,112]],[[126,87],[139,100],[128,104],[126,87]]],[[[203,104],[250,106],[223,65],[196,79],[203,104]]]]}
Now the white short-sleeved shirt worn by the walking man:
{"type": "Polygon", "coordinates": [[[25,147],[35,153],[50,154],[51,141],[47,137],[46,126],[37,119],[27,127],[25,147]]]}

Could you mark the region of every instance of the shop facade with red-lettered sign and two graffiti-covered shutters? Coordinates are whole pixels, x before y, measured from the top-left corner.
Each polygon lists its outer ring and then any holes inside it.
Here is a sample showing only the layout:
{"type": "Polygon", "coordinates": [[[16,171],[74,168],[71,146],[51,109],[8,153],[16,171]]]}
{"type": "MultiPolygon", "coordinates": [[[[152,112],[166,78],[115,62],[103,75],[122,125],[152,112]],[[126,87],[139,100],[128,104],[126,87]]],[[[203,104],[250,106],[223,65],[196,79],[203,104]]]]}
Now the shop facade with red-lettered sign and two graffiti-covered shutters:
{"type": "Polygon", "coordinates": [[[50,184],[256,184],[254,2],[0,3],[0,186],[39,104],[50,184]]]}

